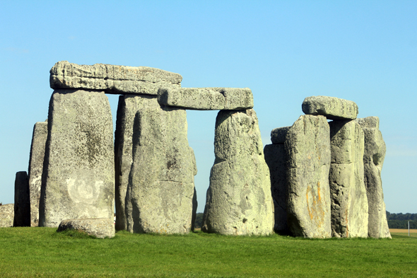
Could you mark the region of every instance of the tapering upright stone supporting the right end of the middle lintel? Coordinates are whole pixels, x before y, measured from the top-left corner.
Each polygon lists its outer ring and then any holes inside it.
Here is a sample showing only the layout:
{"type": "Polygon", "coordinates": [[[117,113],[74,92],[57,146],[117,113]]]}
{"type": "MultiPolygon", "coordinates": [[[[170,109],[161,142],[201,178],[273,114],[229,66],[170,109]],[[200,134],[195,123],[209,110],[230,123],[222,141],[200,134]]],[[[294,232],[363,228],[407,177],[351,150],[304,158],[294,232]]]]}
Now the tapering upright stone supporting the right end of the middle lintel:
{"type": "Polygon", "coordinates": [[[225,235],[272,233],[271,180],[254,110],[218,112],[214,154],[201,230],[225,235]]]}

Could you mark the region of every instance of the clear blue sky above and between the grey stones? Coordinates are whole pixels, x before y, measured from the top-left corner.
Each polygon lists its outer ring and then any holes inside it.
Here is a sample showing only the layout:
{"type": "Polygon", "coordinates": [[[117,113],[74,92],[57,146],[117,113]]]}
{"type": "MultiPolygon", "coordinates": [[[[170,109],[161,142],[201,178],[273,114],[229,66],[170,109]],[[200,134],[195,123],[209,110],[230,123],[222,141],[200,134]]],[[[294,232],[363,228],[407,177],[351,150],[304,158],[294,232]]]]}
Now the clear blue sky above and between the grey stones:
{"type": "MultiPolygon", "coordinates": [[[[353,100],[358,117],[380,117],[387,210],[417,213],[417,1],[0,1],[3,204],[28,170],[49,69],[62,60],[165,69],[182,87],[251,88],[264,144],[303,114],[307,96],[353,100]]],[[[187,111],[198,212],[216,115],[187,111]]]]}

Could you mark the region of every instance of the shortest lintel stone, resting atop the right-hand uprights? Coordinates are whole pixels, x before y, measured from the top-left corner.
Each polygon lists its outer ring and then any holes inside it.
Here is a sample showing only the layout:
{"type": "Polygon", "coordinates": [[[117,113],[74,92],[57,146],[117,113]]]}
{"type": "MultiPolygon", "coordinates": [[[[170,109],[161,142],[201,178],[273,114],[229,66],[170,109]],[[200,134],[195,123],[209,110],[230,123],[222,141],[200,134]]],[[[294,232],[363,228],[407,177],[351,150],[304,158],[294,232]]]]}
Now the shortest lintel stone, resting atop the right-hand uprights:
{"type": "Polygon", "coordinates": [[[309,96],[303,101],[302,108],[307,115],[323,115],[331,120],[353,120],[358,116],[356,103],[331,96],[309,96]]]}

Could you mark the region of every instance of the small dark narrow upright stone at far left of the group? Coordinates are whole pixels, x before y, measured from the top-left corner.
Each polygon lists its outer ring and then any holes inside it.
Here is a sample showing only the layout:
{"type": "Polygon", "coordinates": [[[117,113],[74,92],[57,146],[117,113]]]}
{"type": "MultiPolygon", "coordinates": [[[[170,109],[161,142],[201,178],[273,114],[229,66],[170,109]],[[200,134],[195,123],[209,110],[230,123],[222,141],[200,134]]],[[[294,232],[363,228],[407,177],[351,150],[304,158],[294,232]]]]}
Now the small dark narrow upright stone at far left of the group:
{"type": "Polygon", "coordinates": [[[25,171],[16,173],[14,182],[13,227],[30,227],[29,178],[25,171]]]}

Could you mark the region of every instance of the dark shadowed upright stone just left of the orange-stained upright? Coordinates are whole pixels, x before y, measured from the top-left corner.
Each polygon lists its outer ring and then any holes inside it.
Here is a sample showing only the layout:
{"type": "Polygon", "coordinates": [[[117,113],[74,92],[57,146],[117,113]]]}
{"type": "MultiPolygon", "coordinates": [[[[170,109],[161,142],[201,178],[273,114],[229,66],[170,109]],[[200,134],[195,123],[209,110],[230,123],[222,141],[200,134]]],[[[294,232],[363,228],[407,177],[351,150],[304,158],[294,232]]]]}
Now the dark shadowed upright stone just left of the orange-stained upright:
{"type": "Polygon", "coordinates": [[[286,151],[284,144],[270,144],[264,148],[266,164],[271,175],[271,193],[274,200],[274,230],[280,233],[288,233],[287,224],[287,194],[286,179],[286,151]]]}

